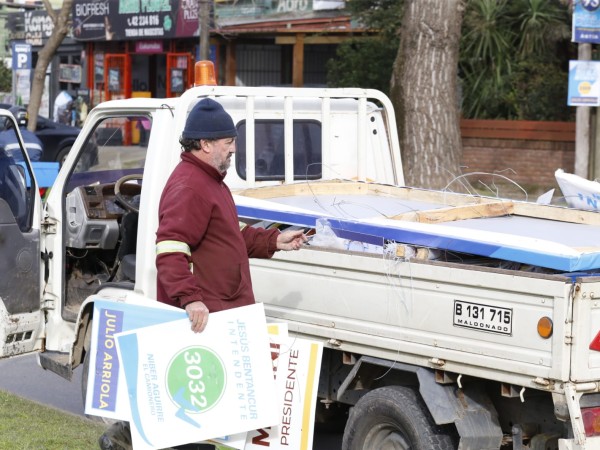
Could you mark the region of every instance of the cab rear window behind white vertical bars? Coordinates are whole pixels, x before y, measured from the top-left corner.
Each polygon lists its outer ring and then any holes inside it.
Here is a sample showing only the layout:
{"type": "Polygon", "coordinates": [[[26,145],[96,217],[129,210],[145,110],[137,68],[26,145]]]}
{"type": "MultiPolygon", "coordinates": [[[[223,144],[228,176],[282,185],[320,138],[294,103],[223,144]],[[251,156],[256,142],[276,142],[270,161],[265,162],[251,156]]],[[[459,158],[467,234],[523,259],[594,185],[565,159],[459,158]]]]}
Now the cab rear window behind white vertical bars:
{"type": "MultiPolygon", "coordinates": [[[[237,125],[237,173],[246,179],[246,121],[237,125]]],[[[283,120],[259,119],[254,122],[254,167],[257,180],[284,180],[283,120]]],[[[321,124],[316,120],[294,120],[294,179],[321,178],[321,124]]]]}

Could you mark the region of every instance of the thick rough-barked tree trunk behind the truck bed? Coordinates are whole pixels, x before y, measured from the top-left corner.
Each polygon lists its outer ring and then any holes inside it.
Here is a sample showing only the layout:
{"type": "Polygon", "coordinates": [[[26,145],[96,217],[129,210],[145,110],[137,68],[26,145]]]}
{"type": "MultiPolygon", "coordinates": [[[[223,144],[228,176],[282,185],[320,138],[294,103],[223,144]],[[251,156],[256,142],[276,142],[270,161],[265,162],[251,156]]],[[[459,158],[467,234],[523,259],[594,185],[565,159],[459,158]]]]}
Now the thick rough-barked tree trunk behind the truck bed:
{"type": "Polygon", "coordinates": [[[457,68],[464,8],[464,0],[405,0],[391,97],[409,186],[441,189],[460,175],[457,68]]]}

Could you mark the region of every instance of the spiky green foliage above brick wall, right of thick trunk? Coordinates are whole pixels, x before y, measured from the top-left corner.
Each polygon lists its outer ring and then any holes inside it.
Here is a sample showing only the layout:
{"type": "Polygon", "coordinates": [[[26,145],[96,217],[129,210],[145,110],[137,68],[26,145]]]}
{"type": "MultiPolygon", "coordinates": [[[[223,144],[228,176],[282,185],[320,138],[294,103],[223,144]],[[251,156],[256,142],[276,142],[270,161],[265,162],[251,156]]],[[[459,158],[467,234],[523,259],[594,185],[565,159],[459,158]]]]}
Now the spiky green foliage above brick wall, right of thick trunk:
{"type": "Polygon", "coordinates": [[[463,116],[570,117],[567,68],[557,57],[569,41],[569,22],[559,0],[468,0],[460,54],[463,116]]]}

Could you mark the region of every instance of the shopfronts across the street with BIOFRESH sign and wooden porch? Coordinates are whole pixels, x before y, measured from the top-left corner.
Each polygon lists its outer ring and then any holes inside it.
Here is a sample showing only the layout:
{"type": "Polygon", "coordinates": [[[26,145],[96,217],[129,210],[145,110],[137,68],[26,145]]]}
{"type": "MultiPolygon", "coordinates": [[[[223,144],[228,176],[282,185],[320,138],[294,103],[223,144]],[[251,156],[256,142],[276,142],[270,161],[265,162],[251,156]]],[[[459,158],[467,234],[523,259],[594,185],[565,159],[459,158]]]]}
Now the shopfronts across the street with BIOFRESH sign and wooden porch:
{"type": "MultiPolygon", "coordinates": [[[[324,86],[340,42],[364,30],[346,0],[213,0],[210,59],[220,84],[324,86]]],[[[36,54],[53,24],[45,10],[13,13],[11,42],[36,54]]],[[[110,99],[172,97],[193,84],[199,0],[74,0],[72,33],[49,68],[43,109],[68,92],[89,107],[110,99]]]]}

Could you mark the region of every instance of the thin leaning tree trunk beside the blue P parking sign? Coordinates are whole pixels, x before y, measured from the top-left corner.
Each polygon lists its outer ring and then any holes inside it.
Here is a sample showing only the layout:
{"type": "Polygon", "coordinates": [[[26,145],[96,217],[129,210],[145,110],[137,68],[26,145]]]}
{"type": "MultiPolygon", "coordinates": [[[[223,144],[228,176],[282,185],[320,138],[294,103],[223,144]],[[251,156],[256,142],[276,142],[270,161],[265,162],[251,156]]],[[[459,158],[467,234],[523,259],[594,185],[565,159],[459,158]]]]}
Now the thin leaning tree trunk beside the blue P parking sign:
{"type": "Polygon", "coordinates": [[[46,11],[54,22],[52,34],[44,47],[38,53],[38,60],[33,71],[33,82],[31,84],[31,95],[27,112],[29,113],[29,124],[27,129],[35,131],[37,126],[37,115],[42,102],[42,94],[44,93],[44,81],[46,80],[46,70],[56,53],[58,47],[69,31],[69,18],[71,16],[71,6],[73,0],[63,0],[62,7],[58,15],[52,9],[52,5],[48,0],[44,0],[46,11]]]}

